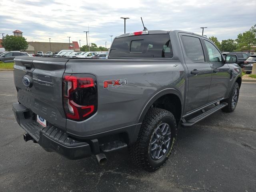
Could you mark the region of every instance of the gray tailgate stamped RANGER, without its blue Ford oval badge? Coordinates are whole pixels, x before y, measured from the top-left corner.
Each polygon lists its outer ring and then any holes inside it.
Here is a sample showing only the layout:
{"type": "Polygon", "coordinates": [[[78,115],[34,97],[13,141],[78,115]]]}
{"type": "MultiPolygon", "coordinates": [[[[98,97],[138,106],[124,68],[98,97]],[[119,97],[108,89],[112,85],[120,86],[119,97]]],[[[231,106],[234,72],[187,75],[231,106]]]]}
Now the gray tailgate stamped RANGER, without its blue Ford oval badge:
{"type": "Polygon", "coordinates": [[[47,122],[66,129],[62,105],[62,76],[68,59],[16,57],[14,84],[18,101],[47,122]],[[25,78],[25,83],[24,79],[25,78]],[[29,86],[26,84],[30,82],[29,86]],[[25,85],[26,84],[26,85],[25,85]]]}

